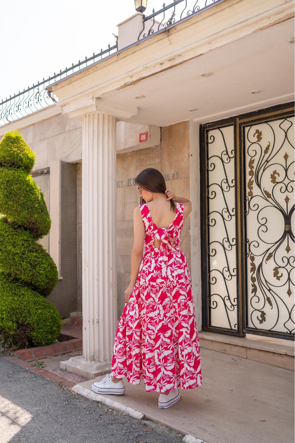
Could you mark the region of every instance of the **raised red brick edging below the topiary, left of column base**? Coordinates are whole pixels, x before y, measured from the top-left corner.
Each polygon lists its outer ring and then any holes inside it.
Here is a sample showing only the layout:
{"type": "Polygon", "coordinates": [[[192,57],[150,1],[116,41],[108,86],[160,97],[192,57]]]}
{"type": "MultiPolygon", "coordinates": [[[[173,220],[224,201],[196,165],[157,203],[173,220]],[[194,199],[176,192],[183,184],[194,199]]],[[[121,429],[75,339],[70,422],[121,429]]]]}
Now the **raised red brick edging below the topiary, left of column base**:
{"type": "Polygon", "coordinates": [[[11,354],[24,361],[36,360],[36,358],[52,357],[54,355],[67,354],[68,352],[83,349],[83,342],[80,338],[73,338],[66,342],[53,343],[52,345],[37,346],[35,348],[19,349],[11,354]]]}

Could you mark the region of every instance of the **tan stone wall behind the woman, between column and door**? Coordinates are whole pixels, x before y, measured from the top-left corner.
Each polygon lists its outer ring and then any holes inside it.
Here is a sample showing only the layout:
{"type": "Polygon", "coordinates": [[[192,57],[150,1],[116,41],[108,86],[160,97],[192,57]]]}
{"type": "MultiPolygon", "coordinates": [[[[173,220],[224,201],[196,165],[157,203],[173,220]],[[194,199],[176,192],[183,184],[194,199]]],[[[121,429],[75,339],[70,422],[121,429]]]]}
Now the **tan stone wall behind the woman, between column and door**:
{"type": "MultiPolygon", "coordinates": [[[[117,155],[117,295],[118,319],[122,314],[124,291],[130,282],[133,248],[133,211],[140,204],[133,179],[146,167],[154,167],[166,178],[167,188],[177,196],[189,198],[189,123],[162,128],[161,145],[117,155]]],[[[190,217],[184,221],[180,248],[190,267],[190,217]]],[[[191,269],[190,269],[191,270],[191,269]]]]}

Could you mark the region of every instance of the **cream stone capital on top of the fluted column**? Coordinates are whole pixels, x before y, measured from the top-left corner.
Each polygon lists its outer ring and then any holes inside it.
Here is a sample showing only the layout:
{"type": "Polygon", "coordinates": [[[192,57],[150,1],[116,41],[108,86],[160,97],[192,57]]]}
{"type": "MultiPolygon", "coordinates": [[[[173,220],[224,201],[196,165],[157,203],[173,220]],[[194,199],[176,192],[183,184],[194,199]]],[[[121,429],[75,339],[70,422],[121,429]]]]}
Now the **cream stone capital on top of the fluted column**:
{"type": "Polygon", "coordinates": [[[125,120],[138,113],[137,106],[118,105],[113,100],[95,96],[81,97],[65,104],[61,103],[60,106],[63,115],[77,120],[82,120],[84,115],[88,114],[107,114],[118,120],[125,120]]]}

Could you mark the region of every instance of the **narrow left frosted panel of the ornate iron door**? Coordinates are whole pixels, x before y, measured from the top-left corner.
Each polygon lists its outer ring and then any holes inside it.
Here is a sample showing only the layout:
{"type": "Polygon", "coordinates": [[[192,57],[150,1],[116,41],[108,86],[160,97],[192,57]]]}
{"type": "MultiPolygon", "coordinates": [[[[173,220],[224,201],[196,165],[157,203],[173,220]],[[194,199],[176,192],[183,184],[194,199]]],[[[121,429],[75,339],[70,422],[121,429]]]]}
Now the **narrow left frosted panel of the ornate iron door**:
{"type": "Polygon", "coordinates": [[[207,132],[209,322],[237,330],[234,125],[207,132]]]}

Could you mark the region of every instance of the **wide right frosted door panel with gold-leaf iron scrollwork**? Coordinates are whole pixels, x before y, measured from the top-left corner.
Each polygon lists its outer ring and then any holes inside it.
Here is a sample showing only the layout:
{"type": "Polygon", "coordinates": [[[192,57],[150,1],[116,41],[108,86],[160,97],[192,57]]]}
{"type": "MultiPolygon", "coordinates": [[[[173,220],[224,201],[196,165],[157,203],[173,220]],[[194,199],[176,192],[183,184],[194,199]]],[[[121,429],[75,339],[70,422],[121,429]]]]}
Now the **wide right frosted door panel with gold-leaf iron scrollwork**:
{"type": "Polygon", "coordinates": [[[294,334],[294,117],[244,128],[247,326],[294,334]]]}

